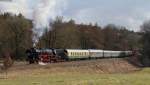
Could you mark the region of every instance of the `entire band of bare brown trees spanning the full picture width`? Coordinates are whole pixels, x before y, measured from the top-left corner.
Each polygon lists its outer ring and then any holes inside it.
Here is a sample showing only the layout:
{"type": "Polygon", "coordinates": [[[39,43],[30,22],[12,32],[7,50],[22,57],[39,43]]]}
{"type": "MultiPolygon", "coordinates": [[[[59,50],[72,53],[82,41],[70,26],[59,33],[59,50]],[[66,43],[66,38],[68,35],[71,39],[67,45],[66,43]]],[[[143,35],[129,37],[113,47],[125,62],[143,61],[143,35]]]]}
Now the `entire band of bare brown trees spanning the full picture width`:
{"type": "MultiPolygon", "coordinates": [[[[37,48],[140,50],[140,60],[150,66],[150,21],[134,32],[124,26],[77,24],[73,19],[57,17],[36,43],[37,48]]],[[[0,15],[0,55],[9,51],[14,59],[25,59],[25,50],[33,47],[33,23],[21,14],[0,15]]]]}

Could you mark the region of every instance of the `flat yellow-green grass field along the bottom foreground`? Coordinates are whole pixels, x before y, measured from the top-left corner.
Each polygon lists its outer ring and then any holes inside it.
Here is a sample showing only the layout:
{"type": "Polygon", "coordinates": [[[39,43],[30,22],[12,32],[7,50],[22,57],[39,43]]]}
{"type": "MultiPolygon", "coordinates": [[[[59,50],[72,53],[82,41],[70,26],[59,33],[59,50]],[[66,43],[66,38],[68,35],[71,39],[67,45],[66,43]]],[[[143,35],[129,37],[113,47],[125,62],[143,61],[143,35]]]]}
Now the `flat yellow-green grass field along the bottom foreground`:
{"type": "Polygon", "coordinates": [[[0,85],[150,85],[150,68],[124,74],[56,72],[33,70],[8,74],[0,85]]]}

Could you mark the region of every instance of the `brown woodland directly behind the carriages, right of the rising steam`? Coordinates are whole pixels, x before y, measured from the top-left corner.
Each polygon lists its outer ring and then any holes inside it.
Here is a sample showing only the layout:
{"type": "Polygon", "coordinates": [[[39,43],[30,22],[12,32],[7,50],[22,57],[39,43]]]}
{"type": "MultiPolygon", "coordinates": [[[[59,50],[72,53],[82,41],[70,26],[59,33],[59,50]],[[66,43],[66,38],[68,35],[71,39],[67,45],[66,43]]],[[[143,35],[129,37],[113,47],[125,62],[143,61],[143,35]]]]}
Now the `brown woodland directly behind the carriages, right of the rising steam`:
{"type": "Polygon", "coordinates": [[[61,17],[45,29],[37,46],[39,48],[132,50],[141,46],[141,34],[123,26],[108,24],[76,24],[74,20],[63,21],[61,17]]]}

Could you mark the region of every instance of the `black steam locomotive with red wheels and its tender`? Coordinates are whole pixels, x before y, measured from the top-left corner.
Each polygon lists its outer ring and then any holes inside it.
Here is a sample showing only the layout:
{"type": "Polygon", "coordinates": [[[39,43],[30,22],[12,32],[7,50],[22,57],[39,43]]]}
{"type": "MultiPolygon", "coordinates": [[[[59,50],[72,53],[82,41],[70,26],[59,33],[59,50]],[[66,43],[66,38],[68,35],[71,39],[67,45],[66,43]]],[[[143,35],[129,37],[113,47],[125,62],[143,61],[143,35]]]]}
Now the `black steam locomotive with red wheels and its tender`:
{"type": "Polygon", "coordinates": [[[27,49],[27,61],[29,64],[38,62],[61,62],[67,61],[67,51],[64,49],[27,49]]]}

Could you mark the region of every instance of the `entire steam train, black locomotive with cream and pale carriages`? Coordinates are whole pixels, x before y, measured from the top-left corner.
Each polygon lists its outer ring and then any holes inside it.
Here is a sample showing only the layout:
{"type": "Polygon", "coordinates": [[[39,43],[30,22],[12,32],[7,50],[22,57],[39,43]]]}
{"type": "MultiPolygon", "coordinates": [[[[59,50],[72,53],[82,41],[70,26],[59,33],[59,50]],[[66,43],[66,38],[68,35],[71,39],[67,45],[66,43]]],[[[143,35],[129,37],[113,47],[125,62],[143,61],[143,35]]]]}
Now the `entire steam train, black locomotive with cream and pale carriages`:
{"type": "Polygon", "coordinates": [[[32,63],[51,63],[72,60],[122,58],[132,56],[132,51],[111,51],[101,49],[35,49],[26,51],[27,60],[32,63]]]}

